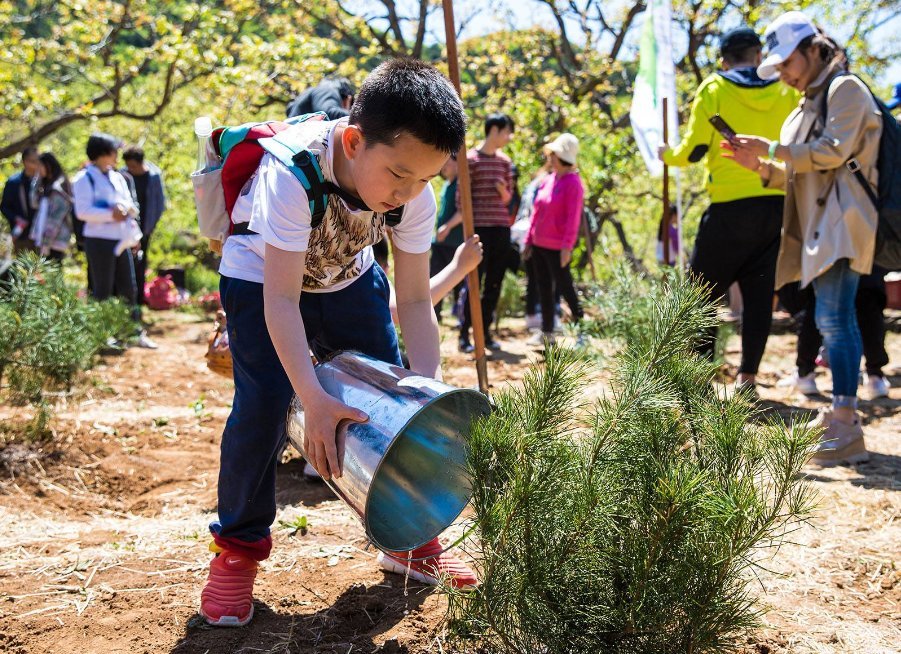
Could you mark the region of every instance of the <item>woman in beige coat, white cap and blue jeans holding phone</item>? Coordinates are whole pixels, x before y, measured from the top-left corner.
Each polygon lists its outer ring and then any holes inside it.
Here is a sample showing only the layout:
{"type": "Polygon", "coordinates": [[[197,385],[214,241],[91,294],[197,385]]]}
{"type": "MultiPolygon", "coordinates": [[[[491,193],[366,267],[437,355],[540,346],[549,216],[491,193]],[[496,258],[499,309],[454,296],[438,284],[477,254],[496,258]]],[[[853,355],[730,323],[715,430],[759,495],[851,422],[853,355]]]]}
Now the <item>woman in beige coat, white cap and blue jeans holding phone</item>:
{"type": "Polygon", "coordinates": [[[860,276],[873,266],[877,212],[851,168],[859,166],[875,190],[882,118],[866,85],[847,74],[841,49],[803,13],[783,14],[765,36],[768,52],[758,75],[778,76],[804,97],[779,141],[739,135],[726,147],[764,186],[786,192],[776,288],[800,280],[802,287],[813,284],[816,294],[833,388],[832,407],[811,423],[823,429],[813,461],[866,461],[854,298],[860,276]]]}

